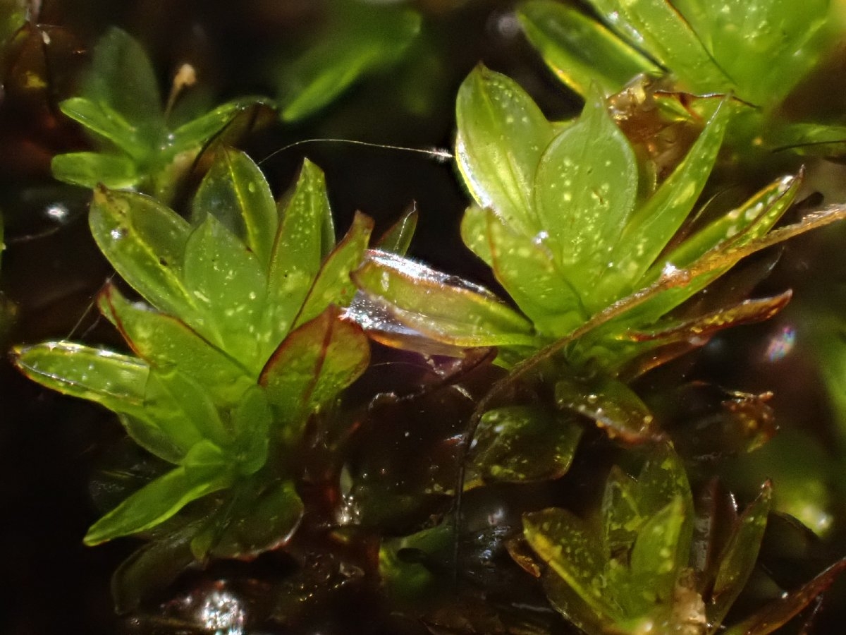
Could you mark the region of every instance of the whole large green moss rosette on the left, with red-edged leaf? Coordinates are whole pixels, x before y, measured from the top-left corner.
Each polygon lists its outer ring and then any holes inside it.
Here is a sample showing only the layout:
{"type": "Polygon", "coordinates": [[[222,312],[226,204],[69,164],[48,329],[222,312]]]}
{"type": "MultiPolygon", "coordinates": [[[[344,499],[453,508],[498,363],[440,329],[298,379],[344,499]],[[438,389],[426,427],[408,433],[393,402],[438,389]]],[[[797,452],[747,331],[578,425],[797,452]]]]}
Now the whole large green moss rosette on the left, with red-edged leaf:
{"type": "Polygon", "coordinates": [[[336,246],[319,168],[306,161],[277,205],[255,163],[226,150],[190,221],[149,196],[101,186],[90,224],[149,302],[114,285],[98,301],[133,354],[59,341],[19,347],[15,361],[41,384],[117,412],[130,437],[175,467],[103,516],[86,543],[146,532],[225,491],[194,532],[195,557],[274,544],[302,512],[284,452],[368,362],[365,336],[339,315],[371,221],[358,216],[336,246]],[[269,534],[259,529],[265,516],[269,534]]]}

